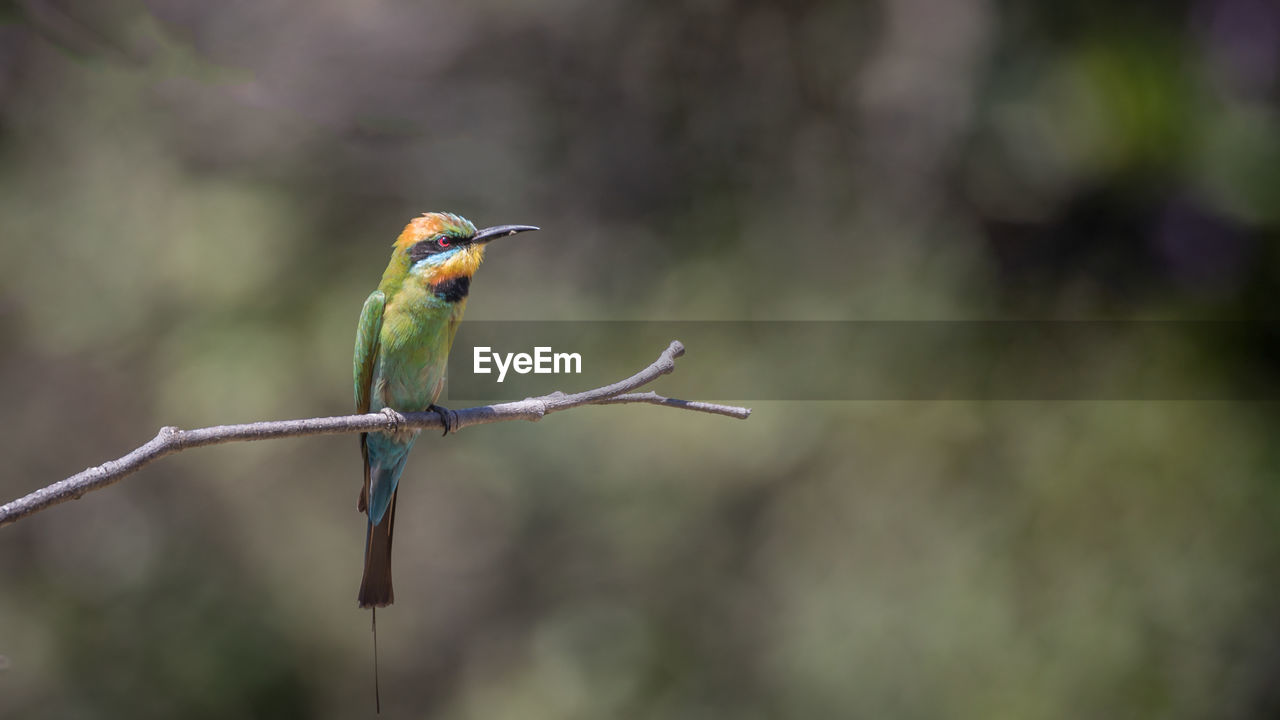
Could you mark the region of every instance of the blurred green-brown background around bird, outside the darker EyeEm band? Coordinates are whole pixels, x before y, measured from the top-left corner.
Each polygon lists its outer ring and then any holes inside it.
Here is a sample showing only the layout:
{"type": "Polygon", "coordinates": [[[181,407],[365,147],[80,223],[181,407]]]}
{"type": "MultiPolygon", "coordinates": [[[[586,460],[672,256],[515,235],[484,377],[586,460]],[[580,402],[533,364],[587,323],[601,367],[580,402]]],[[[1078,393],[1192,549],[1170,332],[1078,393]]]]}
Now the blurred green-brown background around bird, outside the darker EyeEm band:
{"type": "MultiPolygon", "coordinates": [[[[545,228],[471,319],[1267,327],[1277,70],[1268,0],[4,4],[3,500],[347,413],[424,210],[545,228]]],[[[1280,714],[1272,404],[753,405],[424,437],[384,716],[1280,714]]],[[[0,530],[0,716],[372,715],[358,484],[229,445],[0,530]]]]}

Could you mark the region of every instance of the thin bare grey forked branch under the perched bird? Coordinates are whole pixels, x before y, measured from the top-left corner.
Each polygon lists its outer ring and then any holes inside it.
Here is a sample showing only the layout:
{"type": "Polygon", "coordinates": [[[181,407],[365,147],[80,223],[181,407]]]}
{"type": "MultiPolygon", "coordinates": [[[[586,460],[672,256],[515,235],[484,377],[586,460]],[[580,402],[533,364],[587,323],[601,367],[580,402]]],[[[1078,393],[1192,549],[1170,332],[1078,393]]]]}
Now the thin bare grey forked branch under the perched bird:
{"type": "MultiPolygon", "coordinates": [[[[502,423],[506,420],[531,420],[543,419],[550,413],[559,413],[571,407],[584,405],[621,405],[627,402],[645,402],[649,405],[662,405],[681,410],[694,410],[698,413],[712,413],[731,418],[746,419],[751,410],[748,407],[733,407],[727,405],[713,405],[710,402],[696,402],[662,397],[654,392],[635,393],[636,388],[644,387],[662,375],[676,369],[676,357],[685,354],[685,346],[680,341],[672,341],[648,368],[631,375],[625,380],[616,382],[586,392],[566,395],[553,392],[540,397],[526,397],[513,402],[499,402],[497,405],[484,405],[480,407],[467,407],[465,410],[449,410],[449,425],[453,430],[468,428],[471,425],[484,425],[488,423],[502,423]]],[[[396,413],[387,409],[381,413],[369,413],[366,415],[340,415],[334,418],[303,418],[301,420],[275,420],[264,423],[244,423],[239,425],[214,425],[211,428],[198,428],[183,430],[179,428],[161,428],[151,442],[129,452],[124,457],[104,462],[96,468],[90,468],[77,473],[65,480],[59,480],[14,500],[6,505],[0,505],[0,527],[15,523],[28,515],[52,507],[68,500],[78,500],[87,492],[101,489],[118,483],[127,475],[141,470],[143,466],[164,457],[192,447],[206,445],[221,445],[224,442],[274,439],[282,437],[323,436],[340,433],[362,433],[370,430],[394,430],[402,428],[413,429],[442,429],[444,425],[435,413],[396,413]]]]}

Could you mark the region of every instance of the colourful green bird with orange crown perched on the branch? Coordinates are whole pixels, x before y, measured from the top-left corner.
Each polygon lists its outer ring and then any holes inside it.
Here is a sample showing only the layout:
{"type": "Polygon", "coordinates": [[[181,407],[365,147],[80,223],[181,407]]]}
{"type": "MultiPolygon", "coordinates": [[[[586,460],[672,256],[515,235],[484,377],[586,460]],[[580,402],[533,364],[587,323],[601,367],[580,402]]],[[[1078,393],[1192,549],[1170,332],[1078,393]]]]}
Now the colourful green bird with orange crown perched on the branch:
{"type": "MultiPolygon", "coordinates": [[[[477,231],[466,218],[426,213],[413,218],[396,240],[383,282],[365,301],[356,328],[356,411],[384,407],[401,413],[435,409],[444,387],[444,365],[462,320],[471,275],[484,260],[485,245],[498,237],[535,231],[532,225],[498,225],[477,231]]],[[[448,432],[447,416],[445,433],[448,432]]],[[[396,495],[404,460],[417,430],[360,436],[365,484],[358,509],[367,514],[365,575],[360,606],[383,607],[392,594],[392,530],[396,495]]]]}

